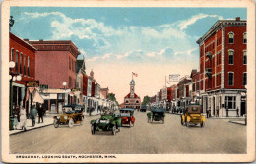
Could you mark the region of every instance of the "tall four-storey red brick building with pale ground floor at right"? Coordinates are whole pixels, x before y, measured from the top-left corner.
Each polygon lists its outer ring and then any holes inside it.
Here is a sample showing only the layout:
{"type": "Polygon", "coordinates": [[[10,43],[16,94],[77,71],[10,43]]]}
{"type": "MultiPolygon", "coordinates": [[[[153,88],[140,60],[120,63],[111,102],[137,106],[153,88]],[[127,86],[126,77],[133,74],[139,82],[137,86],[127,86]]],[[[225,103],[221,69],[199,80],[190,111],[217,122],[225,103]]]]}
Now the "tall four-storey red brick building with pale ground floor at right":
{"type": "Polygon", "coordinates": [[[219,116],[245,114],[246,20],[219,20],[197,43],[203,111],[219,116]]]}

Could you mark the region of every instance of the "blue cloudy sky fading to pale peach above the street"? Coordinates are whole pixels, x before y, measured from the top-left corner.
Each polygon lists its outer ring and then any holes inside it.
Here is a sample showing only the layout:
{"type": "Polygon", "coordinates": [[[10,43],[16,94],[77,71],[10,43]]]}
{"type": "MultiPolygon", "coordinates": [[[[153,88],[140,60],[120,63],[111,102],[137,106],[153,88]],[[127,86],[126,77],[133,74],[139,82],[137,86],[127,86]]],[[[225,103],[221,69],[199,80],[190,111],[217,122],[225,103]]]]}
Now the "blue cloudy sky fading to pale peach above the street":
{"type": "MultiPolygon", "coordinates": [[[[11,32],[30,40],[72,40],[96,82],[116,94],[154,96],[165,76],[199,70],[196,41],[218,20],[247,19],[246,8],[11,7],[11,32]]],[[[175,84],[175,82],[170,82],[175,84]]],[[[170,86],[167,84],[167,86],[170,86]]]]}

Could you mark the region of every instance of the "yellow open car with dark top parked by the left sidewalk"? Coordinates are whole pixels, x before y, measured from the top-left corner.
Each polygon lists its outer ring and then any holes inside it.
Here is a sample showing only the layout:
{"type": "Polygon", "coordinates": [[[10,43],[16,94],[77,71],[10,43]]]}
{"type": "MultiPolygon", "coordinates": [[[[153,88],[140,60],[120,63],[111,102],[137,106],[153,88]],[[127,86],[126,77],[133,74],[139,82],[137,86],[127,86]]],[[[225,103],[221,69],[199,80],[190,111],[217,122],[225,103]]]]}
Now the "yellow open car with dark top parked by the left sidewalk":
{"type": "Polygon", "coordinates": [[[82,124],[84,115],[84,106],[78,104],[65,105],[62,109],[62,114],[54,116],[53,125],[58,128],[59,125],[68,125],[70,128],[74,124],[82,124]]]}

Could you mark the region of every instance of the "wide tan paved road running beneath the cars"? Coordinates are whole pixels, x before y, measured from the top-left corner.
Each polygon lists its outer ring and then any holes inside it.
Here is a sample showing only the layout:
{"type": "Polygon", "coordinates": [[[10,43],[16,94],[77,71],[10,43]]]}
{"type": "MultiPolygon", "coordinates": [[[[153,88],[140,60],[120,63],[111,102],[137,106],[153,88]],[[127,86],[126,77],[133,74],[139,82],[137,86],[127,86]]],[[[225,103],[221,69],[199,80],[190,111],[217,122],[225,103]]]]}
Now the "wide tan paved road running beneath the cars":
{"type": "Polygon", "coordinates": [[[90,120],[97,117],[86,117],[83,125],[73,128],[48,126],[10,136],[11,153],[246,153],[246,126],[225,119],[207,119],[204,128],[185,127],[179,115],[166,114],[164,124],[150,124],[145,112],[136,112],[135,126],[122,127],[112,136],[91,134],[90,120]]]}

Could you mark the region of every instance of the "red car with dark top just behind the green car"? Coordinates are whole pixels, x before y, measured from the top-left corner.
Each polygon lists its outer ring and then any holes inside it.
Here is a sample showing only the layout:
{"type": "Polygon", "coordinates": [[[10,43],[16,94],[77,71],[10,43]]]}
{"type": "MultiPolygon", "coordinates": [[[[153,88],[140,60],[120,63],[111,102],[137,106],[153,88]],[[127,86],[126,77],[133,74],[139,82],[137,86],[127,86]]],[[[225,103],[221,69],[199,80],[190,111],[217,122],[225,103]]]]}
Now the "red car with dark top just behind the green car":
{"type": "Polygon", "coordinates": [[[134,109],[132,108],[122,108],[120,109],[120,115],[122,117],[122,126],[129,125],[130,127],[134,126],[135,117],[133,116],[134,109]]]}

